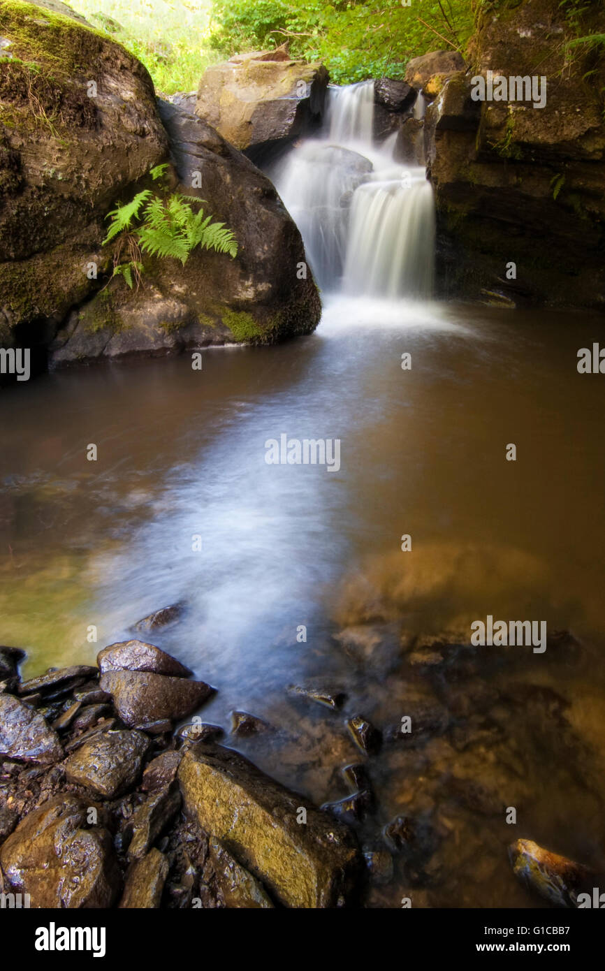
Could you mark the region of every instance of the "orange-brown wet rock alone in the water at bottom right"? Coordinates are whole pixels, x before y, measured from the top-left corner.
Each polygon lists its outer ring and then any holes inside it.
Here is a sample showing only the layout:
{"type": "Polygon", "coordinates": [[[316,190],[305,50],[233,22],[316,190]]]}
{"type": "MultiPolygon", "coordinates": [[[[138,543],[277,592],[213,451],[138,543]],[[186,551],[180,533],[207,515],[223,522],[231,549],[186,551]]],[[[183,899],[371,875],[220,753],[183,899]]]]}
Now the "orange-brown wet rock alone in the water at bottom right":
{"type": "Polygon", "coordinates": [[[577,907],[578,893],[589,882],[588,867],[551,853],[533,840],[517,840],[509,847],[513,873],[555,907],[577,907]]]}

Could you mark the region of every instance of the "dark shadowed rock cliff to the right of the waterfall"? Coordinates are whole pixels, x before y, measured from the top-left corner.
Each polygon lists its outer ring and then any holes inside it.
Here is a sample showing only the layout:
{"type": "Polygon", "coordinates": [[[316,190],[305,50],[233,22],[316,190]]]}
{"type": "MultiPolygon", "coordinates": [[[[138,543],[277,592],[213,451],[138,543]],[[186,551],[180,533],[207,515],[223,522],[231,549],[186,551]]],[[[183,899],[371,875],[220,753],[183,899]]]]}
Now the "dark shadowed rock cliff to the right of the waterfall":
{"type": "MultiPolygon", "coordinates": [[[[605,30],[602,6],[593,8],[585,33],[605,30]]],[[[558,0],[483,7],[471,70],[451,76],[427,109],[442,295],[605,306],[605,62],[587,45],[566,47],[565,10],[558,0]],[[473,77],[531,78],[536,65],[543,108],[472,100],[473,77]]]]}

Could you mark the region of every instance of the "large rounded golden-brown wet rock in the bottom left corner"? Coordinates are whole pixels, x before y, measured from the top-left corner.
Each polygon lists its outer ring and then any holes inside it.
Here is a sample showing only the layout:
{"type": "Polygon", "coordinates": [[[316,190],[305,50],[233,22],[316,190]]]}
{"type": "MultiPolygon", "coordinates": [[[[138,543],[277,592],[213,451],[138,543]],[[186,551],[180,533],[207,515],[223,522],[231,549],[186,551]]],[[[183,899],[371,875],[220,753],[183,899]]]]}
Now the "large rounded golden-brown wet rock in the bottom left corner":
{"type": "Polygon", "coordinates": [[[84,829],[83,800],[61,794],[21,820],[0,848],[10,887],[37,908],[111,907],[120,876],[106,829],[84,829]]]}

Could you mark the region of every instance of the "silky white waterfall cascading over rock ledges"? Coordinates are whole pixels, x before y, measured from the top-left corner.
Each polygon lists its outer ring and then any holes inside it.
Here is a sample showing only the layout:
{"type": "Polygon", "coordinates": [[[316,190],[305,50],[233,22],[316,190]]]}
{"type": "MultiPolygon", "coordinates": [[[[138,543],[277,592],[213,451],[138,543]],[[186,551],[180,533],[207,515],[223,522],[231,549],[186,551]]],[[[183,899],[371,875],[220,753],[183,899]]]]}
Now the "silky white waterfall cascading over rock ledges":
{"type": "Polygon", "coordinates": [[[271,175],[324,291],[425,297],[433,280],[432,188],[423,168],[395,161],[396,135],[377,145],[373,129],[374,83],[331,87],[319,138],[290,151],[271,175]]]}

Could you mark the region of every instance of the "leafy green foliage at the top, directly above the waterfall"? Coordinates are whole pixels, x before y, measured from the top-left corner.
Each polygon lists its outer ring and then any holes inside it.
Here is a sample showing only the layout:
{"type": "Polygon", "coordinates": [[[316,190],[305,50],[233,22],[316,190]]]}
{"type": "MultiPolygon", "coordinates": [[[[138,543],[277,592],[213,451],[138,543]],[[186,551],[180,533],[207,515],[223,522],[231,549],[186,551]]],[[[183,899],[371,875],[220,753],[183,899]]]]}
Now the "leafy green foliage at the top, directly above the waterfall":
{"type": "Polygon", "coordinates": [[[214,0],[211,44],[221,55],[289,43],[321,60],[336,84],[402,78],[411,57],[463,50],[472,30],[468,0],[214,0]]]}

